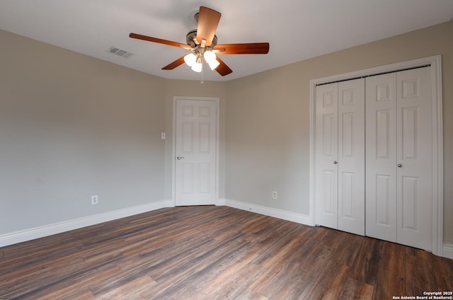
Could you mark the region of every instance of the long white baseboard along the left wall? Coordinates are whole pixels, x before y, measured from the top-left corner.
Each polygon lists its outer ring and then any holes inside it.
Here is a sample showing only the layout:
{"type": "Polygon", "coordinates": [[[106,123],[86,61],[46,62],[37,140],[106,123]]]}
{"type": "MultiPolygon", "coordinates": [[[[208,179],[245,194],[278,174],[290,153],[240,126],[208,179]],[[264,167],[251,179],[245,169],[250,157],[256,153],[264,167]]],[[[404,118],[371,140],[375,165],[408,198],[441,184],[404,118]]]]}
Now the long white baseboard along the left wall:
{"type": "Polygon", "coordinates": [[[21,243],[25,241],[34,240],[35,238],[42,238],[44,236],[51,236],[52,234],[62,233],[64,231],[70,231],[79,229],[86,226],[96,225],[115,219],[121,219],[124,217],[130,217],[134,214],[142,214],[144,212],[151,212],[152,210],[161,209],[164,207],[172,207],[173,204],[168,200],[159,202],[152,202],[149,204],[138,205],[135,207],[127,207],[125,209],[118,209],[113,212],[105,212],[103,214],[95,214],[89,217],[83,217],[78,219],[72,219],[68,221],[62,221],[55,224],[49,224],[45,226],[39,226],[32,229],[25,229],[22,231],[15,231],[13,233],[6,233],[0,235],[0,247],[13,245],[15,243],[21,243]]]}

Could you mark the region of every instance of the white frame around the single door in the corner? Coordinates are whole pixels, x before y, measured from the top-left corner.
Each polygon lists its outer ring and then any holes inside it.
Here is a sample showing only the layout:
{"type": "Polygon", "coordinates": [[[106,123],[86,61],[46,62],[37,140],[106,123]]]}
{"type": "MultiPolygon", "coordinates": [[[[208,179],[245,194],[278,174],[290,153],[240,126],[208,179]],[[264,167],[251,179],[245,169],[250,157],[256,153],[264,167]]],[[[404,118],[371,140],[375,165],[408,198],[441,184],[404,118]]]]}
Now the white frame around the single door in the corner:
{"type": "Polygon", "coordinates": [[[171,153],[171,202],[172,206],[176,206],[176,101],[177,100],[202,100],[214,101],[216,103],[216,134],[215,134],[215,205],[220,205],[219,202],[219,108],[220,98],[213,97],[186,97],[186,96],[173,96],[173,139],[172,139],[172,153],[171,153]]]}

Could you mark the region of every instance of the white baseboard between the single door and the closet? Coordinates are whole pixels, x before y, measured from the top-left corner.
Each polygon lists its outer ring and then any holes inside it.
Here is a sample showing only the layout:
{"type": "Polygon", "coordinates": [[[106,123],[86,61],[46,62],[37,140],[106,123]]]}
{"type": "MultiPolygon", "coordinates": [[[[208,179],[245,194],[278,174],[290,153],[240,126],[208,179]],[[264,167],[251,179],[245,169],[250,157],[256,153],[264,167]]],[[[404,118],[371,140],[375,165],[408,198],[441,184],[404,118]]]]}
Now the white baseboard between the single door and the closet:
{"type": "Polygon", "coordinates": [[[314,226],[311,222],[311,219],[306,214],[297,214],[295,212],[288,212],[281,209],[275,209],[272,207],[263,207],[261,205],[251,204],[247,202],[241,202],[237,200],[226,199],[225,205],[229,207],[234,207],[237,209],[247,210],[248,212],[256,212],[257,214],[264,214],[265,216],[275,217],[278,219],[283,219],[287,221],[293,221],[299,224],[304,224],[308,226],[314,226]]]}

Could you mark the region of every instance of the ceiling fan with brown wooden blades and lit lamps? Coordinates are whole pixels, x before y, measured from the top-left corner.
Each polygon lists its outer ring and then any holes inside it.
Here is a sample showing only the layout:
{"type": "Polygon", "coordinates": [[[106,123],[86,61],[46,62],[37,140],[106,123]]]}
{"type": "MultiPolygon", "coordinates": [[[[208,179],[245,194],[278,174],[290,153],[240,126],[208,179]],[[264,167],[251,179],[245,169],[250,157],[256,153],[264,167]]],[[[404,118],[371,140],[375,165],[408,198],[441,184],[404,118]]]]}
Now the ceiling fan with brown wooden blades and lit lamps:
{"type": "Polygon", "coordinates": [[[193,71],[201,72],[203,61],[209,64],[212,70],[216,70],[220,75],[230,74],[231,70],[216,54],[267,54],[269,52],[268,42],[253,42],[245,44],[224,44],[217,45],[217,25],[219,25],[220,16],[218,11],[211,8],[200,6],[200,11],[195,14],[197,20],[197,29],[190,30],[185,36],[187,44],[172,42],[171,40],[162,40],[157,37],[139,35],[130,33],[130,37],[149,42],[158,42],[159,44],[170,45],[174,47],[183,47],[190,50],[190,54],[176,59],[174,62],[167,64],[163,70],[173,70],[184,62],[192,67],[193,71]]]}

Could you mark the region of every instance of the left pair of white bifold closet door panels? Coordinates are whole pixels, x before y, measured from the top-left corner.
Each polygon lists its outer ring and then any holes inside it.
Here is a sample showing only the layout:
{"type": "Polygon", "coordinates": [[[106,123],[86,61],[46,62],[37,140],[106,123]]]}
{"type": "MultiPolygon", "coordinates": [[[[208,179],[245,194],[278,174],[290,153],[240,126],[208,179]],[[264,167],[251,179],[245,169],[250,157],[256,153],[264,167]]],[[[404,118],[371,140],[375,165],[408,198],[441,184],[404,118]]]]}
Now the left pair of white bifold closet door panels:
{"type": "Polygon", "coordinates": [[[316,224],[365,235],[365,81],[316,87],[316,224]]]}

